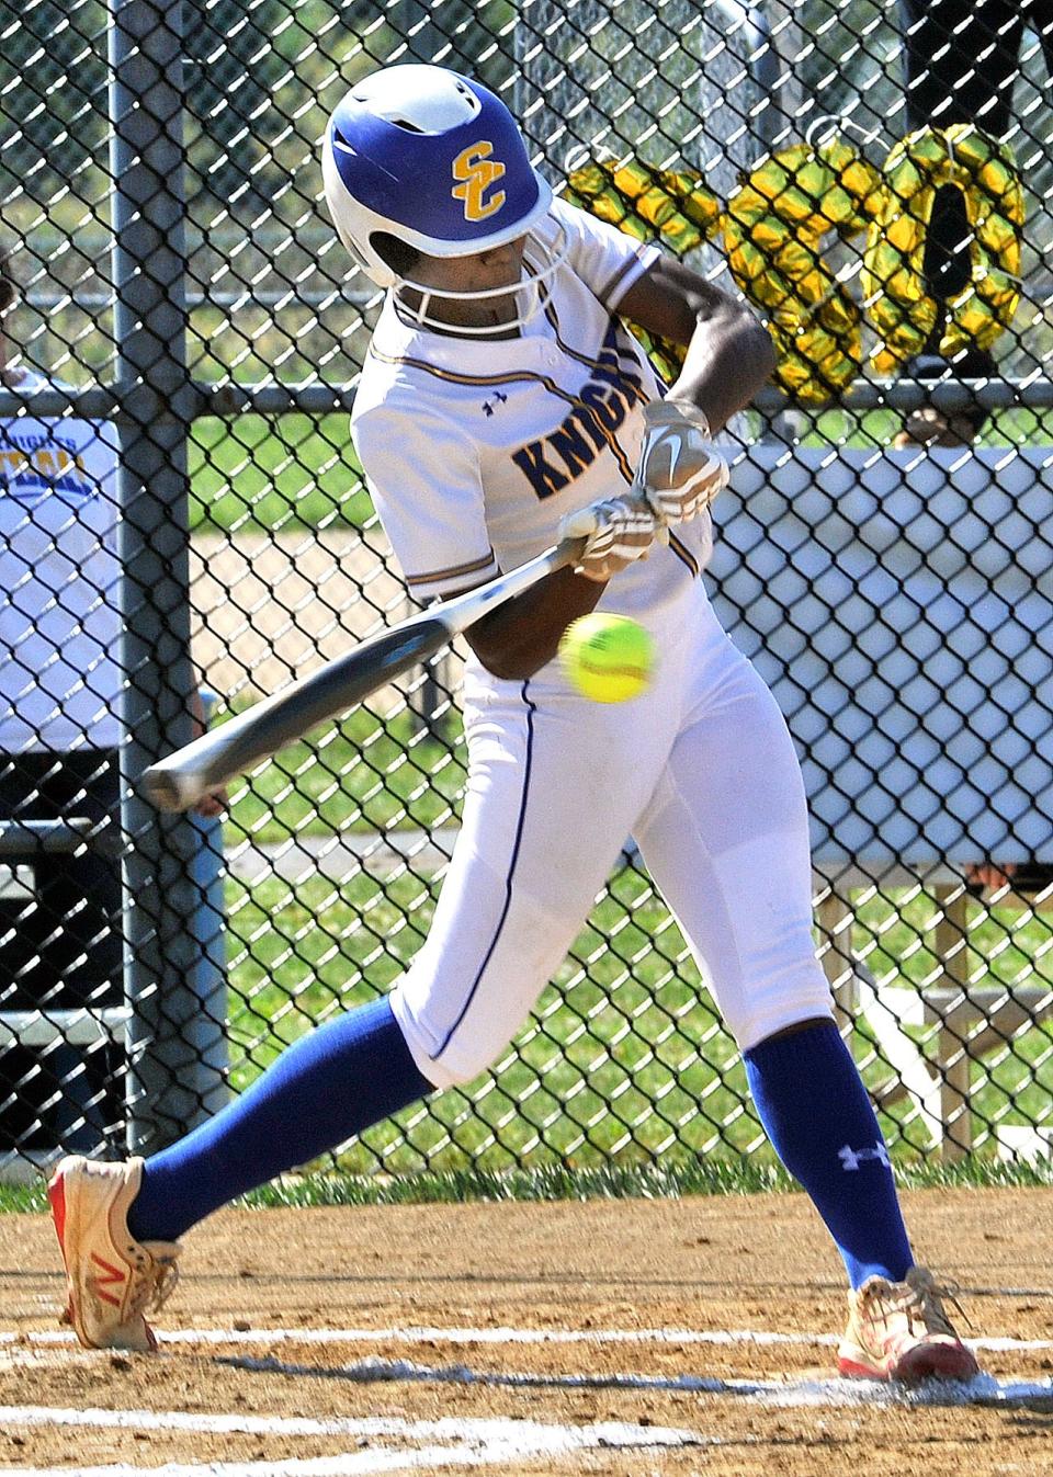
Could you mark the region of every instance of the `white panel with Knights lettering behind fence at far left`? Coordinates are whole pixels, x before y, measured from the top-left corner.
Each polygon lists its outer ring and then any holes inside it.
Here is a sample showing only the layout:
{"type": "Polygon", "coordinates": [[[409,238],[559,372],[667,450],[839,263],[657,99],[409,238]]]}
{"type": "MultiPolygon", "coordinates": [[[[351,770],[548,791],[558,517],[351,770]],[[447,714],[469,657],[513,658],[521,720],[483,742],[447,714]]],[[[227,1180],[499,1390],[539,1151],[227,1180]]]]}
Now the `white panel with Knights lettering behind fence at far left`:
{"type": "MultiPolygon", "coordinates": [[[[24,381],[25,391],[44,381],[24,381]]],[[[0,749],[120,741],[117,431],[0,421],[0,749]]]]}

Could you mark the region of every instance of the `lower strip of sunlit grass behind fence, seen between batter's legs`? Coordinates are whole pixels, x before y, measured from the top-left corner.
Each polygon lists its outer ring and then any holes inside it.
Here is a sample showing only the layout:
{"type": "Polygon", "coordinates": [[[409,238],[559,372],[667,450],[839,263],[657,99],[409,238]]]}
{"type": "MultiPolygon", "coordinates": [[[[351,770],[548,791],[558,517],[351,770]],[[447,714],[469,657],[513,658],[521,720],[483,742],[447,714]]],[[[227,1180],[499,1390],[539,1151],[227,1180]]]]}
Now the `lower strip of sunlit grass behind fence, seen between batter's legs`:
{"type": "MultiPolygon", "coordinates": [[[[385,991],[419,948],[437,886],[428,871],[363,871],[337,888],[313,876],[229,885],[230,1034],[235,1084],[244,1087],[313,1024],[385,991]]],[[[860,908],[857,944],[879,973],[932,982],[936,905],[876,898],[860,908]]],[[[976,932],[989,948],[976,982],[1006,982],[1050,953],[1050,925],[995,914],[976,932]],[[989,938],[988,938],[989,933],[989,938]],[[997,944],[997,947],[995,947],[997,944]]],[[[895,978],[895,976],[893,976],[895,978]]],[[[888,998],[888,995],[885,997],[888,998]]],[[[913,1032],[925,1055],[932,1028],[913,1032]]],[[[864,1019],[854,1052],[873,1092],[892,1078],[864,1019]]],[[[978,1142],[992,1124],[1047,1123],[1053,1097],[1053,1025],[1035,1025],[973,1068],[978,1142]]],[[[908,1103],[883,1114],[904,1159],[925,1159],[927,1134],[908,1103]]],[[[684,941],[647,879],[626,868],[597,904],[536,1015],[492,1075],[380,1124],[340,1155],[353,1174],[504,1173],[520,1165],[601,1170],[669,1155],[768,1154],[747,1100],[737,1049],[722,1028],[684,941]]]]}

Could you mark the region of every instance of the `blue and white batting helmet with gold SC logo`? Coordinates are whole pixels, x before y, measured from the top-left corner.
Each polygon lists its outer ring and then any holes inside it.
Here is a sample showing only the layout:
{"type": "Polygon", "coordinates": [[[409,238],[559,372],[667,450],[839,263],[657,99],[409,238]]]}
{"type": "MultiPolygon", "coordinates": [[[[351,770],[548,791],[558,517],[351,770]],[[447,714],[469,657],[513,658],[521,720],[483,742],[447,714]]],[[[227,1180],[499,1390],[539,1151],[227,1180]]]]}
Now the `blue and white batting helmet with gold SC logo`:
{"type": "Polygon", "coordinates": [[[385,66],[357,83],[325,130],[322,174],[340,239],[384,288],[415,284],[377,253],[378,233],[465,257],[527,235],[552,204],[504,102],[445,66],[385,66]]]}

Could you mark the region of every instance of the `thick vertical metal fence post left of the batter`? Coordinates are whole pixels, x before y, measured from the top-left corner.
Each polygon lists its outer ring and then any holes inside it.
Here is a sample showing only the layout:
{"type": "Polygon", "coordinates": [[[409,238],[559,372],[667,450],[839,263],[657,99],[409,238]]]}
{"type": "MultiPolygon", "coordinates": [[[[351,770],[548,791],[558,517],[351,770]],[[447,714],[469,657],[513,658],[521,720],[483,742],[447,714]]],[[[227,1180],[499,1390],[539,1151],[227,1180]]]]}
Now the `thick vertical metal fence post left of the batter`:
{"type": "Polygon", "coordinates": [[[201,901],[198,833],[136,793],[142,770],[191,737],[183,15],[180,0],[109,0],[111,168],[126,672],[128,1143],[152,1152],[201,1115],[219,1075],[191,1041],[201,901]]]}

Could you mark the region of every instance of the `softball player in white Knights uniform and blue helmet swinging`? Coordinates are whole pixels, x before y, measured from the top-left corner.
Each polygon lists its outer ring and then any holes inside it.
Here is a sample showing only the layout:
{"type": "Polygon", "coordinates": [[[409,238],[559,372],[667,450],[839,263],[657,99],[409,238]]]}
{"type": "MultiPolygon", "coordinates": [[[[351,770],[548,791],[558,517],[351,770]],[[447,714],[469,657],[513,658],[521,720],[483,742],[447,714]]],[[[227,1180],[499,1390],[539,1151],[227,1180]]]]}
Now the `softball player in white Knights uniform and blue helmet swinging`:
{"type": "Polygon", "coordinates": [[[393,66],[337,108],[325,192],[388,295],[353,434],[409,588],[446,597],[567,535],[563,569],[468,632],[464,823],[427,942],[390,997],[312,1032],[146,1164],[65,1159],[50,1188],[83,1343],[148,1349],[177,1238],[507,1046],[632,833],[746,1060],[758,1112],[845,1260],[840,1368],[967,1378],[914,1266],[885,1145],[811,936],[805,795],[775,703],[700,580],[727,482],[712,434],[772,368],[737,303],[552,199],[505,106],[393,66]],[[668,394],[623,318],[688,346],[668,394]],[[660,663],[592,705],[554,660],[589,610],[660,663]],[[105,1275],[100,1275],[105,1266],[105,1275]]]}

